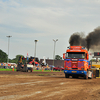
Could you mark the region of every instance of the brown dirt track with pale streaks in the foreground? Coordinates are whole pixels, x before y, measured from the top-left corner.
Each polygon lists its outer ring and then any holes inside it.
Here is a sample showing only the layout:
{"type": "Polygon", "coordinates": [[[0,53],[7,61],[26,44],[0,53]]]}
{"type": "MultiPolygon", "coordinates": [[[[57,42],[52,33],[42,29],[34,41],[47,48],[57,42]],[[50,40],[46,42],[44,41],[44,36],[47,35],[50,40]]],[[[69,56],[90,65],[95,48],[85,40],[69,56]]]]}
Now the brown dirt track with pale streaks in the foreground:
{"type": "Polygon", "coordinates": [[[0,72],[0,100],[100,100],[100,79],[65,78],[63,72],[0,72]]]}

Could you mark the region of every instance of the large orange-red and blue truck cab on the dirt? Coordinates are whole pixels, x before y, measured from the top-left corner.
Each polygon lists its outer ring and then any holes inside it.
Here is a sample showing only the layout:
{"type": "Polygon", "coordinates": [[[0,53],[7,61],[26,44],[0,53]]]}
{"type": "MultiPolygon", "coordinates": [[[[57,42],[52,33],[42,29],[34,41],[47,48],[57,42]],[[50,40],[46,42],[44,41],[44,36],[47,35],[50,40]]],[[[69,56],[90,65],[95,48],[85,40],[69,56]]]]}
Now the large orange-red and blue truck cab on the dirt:
{"type": "Polygon", "coordinates": [[[82,46],[70,46],[63,54],[65,77],[93,78],[88,51],[82,46]]]}

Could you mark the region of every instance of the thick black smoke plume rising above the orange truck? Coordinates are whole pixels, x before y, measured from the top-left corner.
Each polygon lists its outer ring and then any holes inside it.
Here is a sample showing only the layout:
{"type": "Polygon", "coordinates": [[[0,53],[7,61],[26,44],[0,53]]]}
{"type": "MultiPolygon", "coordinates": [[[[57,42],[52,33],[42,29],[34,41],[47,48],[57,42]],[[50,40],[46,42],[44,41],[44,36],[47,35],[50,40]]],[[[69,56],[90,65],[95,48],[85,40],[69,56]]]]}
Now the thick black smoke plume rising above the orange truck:
{"type": "Polygon", "coordinates": [[[70,46],[84,46],[88,50],[100,51],[100,27],[94,29],[87,36],[84,33],[74,33],[69,39],[70,46]]]}

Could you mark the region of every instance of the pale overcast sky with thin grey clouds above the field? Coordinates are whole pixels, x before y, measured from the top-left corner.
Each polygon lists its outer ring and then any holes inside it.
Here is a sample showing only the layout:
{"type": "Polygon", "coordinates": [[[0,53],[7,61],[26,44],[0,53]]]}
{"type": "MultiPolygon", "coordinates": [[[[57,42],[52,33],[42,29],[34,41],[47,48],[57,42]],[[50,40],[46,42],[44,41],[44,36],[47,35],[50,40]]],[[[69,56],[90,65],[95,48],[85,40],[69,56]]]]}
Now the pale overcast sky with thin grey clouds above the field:
{"type": "Polygon", "coordinates": [[[16,55],[53,58],[62,56],[75,32],[87,35],[100,26],[99,0],[0,0],[0,49],[16,55]]]}

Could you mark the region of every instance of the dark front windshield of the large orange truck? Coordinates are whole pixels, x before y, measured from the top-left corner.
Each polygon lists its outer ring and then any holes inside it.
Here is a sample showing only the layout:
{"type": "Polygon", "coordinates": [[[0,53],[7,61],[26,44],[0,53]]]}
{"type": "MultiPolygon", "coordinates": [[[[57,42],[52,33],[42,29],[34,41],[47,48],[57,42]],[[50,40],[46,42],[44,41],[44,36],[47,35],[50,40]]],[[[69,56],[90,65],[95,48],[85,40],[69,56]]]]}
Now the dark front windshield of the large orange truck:
{"type": "Polygon", "coordinates": [[[66,58],[85,58],[84,52],[67,52],[66,58]]]}

